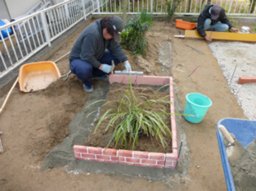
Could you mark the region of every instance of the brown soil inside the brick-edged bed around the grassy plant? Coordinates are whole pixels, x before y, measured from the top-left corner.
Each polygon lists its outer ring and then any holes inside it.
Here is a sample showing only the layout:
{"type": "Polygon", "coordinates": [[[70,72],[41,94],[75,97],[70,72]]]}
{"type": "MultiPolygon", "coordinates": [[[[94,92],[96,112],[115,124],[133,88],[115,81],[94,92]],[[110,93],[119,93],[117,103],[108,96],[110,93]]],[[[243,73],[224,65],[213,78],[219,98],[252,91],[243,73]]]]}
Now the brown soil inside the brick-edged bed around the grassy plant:
{"type": "MultiPolygon", "coordinates": [[[[111,86],[109,92],[107,93],[107,98],[104,102],[106,104],[107,102],[109,104],[102,106],[101,109],[101,115],[100,117],[107,112],[108,109],[117,109],[118,105],[120,105],[121,99],[124,99],[126,104],[129,104],[126,99],[126,90],[128,90],[127,85],[113,85],[111,86]],[[118,95],[118,96],[117,96],[118,95]],[[110,102],[111,101],[111,102],[110,102]]],[[[133,86],[132,91],[135,95],[135,97],[144,96],[148,100],[159,100],[161,98],[164,98],[169,95],[169,92],[160,92],[155,93],[155,91],[150,87],[143,87],[143,86],[133,86]]],[[[140,105],[145,103],[145,98],[138,98],[136,100],[136,105],[140,105]]],[[[129,96],[129,99],[134,102],[133,96],[129,96]]],[[[165,99],[169,100],[169,96],[165,99]]],[[[170,105],[164,104],[164,103],[156,103],[152,105],[148,111],[159,111],[159,109],[164,109],[167,113],[170,113],[170,105]]],[[[170,115],[163,114],[161,117],[165,124],[168,125],[168,128],[171,131],[171,123],[170,123],[170,115]]],[[[97,131],[95,132],[95,128],[97,126],[98,120],[94,123],[94,128],[92,128],[91,133],[88,135],[88,140],[84,142],[85,146],[91,146],[91,147],[107,147],[108,143],[111,141],[112,133],[114,132],[114,128],[107,128],[108,123],[110,122],[110,118],[107,118],[102,121],[102,123],[98,126],[97,131]]],[[[116,121],[115,125],[113,127],[116,127],[116,125],[119,123],[119,120],[116,121]]],[[[168,133],[168,132],[166,132],[168,133]]],[[[139,137],[139,141],[135,143],[134,150],[135,151],[151,151],[151,152],[164,152],[164,153],[171,153],[172,152],[172,139],[168,138],[167,136],[164,136],[164,147],[162,146],[161,142],[159,141],[159,137],[151,137],[147,136],[146,133],[141,132],[139,137]]],[[[168,134],[171,136],[171,134],[168,134]]],[[[127,140],[130,139],[130,137],[126,137],[127,140]]],[[[127,149],[132,150],[132,142],[127,141],[127,147],[125,145],[121,146],[120,142],[116,144],[114,140],[112,140],[109,144],[109,148],[116,148],[116,149],[127,149]]]]}

